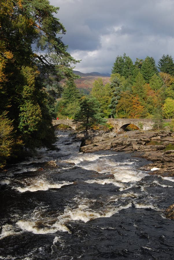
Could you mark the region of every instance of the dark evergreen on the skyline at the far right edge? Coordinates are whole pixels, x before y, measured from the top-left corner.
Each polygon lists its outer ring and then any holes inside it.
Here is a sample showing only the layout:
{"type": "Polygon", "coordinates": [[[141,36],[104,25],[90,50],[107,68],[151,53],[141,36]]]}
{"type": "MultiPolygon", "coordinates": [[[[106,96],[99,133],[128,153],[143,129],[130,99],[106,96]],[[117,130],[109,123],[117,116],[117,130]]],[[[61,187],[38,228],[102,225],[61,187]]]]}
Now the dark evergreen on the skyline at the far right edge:
{"type": "Polygon", "coordinates": [[[174,76],[174,62],[172,56],[169,56],[169,54],[163,54],[158,62],[158,68],[161,72],[165,72],[174,76]]]}

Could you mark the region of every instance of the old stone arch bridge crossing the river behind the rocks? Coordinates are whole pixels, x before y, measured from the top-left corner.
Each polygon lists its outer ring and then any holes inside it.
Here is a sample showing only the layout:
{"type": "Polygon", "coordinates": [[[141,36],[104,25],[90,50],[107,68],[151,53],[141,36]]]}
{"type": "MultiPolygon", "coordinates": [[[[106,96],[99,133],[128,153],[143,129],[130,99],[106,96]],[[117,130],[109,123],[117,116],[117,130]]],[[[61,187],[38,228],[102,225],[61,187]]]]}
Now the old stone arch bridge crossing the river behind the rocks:
{"type": "MultiPolygon", "coordinates": [[[[138,127],[140,130],[149,130],[152,129],[154,122],[150,119],[144,118],[108,118],[106,119],[108,123],[114,126],[114,132],[121,133],[125,130],[125,128],[132,124],[138,127]]],[[[73,120],[69,119],[58,119],[52,120],[52,124],[54,127],[58,127],[59,125],[67,125],[74,130],[78,130],[79,123],[75,124],[73,120]]]]}

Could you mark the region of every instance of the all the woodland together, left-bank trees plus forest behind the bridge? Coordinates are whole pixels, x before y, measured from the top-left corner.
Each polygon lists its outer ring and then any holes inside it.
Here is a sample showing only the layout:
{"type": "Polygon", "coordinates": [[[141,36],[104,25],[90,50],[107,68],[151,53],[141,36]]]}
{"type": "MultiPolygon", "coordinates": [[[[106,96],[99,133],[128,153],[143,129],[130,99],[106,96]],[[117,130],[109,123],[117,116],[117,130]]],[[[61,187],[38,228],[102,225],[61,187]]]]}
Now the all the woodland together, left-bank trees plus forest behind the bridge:
{"type": "MultiPolygon", "coordinates": [[[[88,126],[103,118],[174,117],[174,62],[166,54],[138,59],[117,56],[110,83],[97,79],[90,95],[77,89],[79,61],[62,42],[66,30],[48,0],[1,0],[0,168],[24,150],[53,148],[52,118],[82,118],[88,126]],[[62,86],[62,82],[64,85],[62,86]]],[[[82,122],[83,124],[83,122],[82,122]]]]}

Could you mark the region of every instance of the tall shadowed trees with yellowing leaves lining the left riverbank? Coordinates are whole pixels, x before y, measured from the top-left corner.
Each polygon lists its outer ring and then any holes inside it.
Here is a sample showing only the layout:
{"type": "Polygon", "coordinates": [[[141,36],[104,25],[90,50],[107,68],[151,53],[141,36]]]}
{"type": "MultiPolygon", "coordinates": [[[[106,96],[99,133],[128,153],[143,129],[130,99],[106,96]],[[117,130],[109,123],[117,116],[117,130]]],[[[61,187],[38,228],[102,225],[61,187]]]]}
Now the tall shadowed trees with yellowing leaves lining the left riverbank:
{"type": "Polygon", "coordinates": [[[0,168],[23,149],[51,148],[62,79],[74,79],[66,30],[48,0],[1,0],[0,168]],[[53,90],[54,87],[54,90],[53,90]],[[48,90],[47,90],[48,89],[48,90]]]}

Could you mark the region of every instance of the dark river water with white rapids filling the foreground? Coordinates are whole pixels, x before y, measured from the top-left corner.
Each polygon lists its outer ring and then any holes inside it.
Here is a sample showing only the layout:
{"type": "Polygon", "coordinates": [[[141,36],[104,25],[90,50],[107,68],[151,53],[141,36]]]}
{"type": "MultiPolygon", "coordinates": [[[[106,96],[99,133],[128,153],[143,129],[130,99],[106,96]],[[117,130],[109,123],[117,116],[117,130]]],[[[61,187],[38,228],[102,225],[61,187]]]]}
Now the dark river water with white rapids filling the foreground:
{"type": "Polygon", "coordinates": [[[78,153],[65,133],[56,145],[1,174],[0,259],[174,259],[173,178],[125,153],[78,153]]]}

